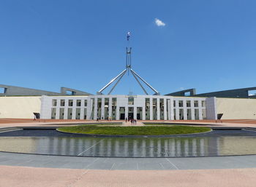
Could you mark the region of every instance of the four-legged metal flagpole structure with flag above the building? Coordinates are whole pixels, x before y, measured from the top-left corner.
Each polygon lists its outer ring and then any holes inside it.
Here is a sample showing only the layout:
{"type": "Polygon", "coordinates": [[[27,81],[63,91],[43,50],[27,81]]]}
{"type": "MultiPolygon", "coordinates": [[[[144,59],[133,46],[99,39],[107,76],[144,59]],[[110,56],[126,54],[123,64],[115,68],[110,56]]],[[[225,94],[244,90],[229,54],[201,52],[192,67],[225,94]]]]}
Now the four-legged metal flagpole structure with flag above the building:
{"type": "MultiPolygon", "coordinates": [[[[127,33],[127,41],[128,41],[128,43],[129,43],[130,35],[131,35],[131,33],[128,32],[127,33]]],[[[128,46],[129,46],[129,44],[128,44],[128,46]]],[[[102,89],[99,89],[99,91],[97,92],[97,95],[103,95],[102,92],[107,87],[109,87],[111,84],[113,84],[114,81],[117,80],[116,84],[114,84],[113,87],[110,89],[110,92],[108,92],[108,95],[110,95],[110,93],[113,91],[113,89],[115,89],[115,87],[118,84],[118,82],[121,81],[121,79],[123,78],[124,74],[128,73],[128,75],[129,75],[129,71],[132,73],[132,76],[134,76],[136,81],[138,81],[138,84],[143,89],[143,92],[145,92],[146,95],[148,95],[148,92],[146,92],[146,89],[143,87],[143,84],[141,84],[140,81],[143,81],[144,84],[146,84],[151,90],[153,90],[154,95],[160,95],[160,93],[157,91],[157,89],[154,89],[154,87],[151,87],[151,85],[148,84],[148,82],[146,82],[141,76],[139,76],[138,73],[136,73],[135,71],[132,70],[132,47],[127,47],[126,69],[124,69],[124,71],[121,71],[121,73],[119,73],[118,76],[116,76],[108,84],[106,84],[105,87],[102,87],[102,89]]]]}

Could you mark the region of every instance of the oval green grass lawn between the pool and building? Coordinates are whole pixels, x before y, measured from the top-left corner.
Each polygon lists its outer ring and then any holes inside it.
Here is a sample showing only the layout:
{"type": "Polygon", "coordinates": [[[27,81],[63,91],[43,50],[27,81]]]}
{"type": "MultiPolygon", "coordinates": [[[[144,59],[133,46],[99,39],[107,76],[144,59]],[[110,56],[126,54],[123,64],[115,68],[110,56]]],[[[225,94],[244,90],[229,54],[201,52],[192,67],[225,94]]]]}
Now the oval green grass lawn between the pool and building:
{"type": "Polygon", "coordinates": [[[89,135],[181,135],[211,131],[208,127],[170,126],[170,127],[100,127],[97,125],[78,125],[75,127],[59,127],[61,132],[89,135]]]}

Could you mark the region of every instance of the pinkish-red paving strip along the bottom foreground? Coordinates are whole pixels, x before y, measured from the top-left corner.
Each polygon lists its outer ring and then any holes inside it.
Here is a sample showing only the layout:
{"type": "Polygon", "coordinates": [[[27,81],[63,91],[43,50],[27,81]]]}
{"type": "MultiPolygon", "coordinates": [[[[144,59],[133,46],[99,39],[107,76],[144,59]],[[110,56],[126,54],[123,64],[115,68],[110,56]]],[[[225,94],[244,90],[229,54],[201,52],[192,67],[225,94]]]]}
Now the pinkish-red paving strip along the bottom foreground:
{"type": "Polygon", "coordinates": [[[0,166],[0,187],[255,187],[256,169],[74,170],[0,166]]]}

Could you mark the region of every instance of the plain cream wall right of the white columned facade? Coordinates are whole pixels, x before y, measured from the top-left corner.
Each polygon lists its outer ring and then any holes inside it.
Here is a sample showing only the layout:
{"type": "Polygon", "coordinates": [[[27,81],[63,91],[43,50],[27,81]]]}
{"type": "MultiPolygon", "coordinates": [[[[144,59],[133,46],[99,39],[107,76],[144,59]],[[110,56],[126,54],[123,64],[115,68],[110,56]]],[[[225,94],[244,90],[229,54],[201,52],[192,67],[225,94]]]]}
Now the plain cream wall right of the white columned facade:
{"type": "Polygon", "coordinates": [[[222,119],[256,119],[256,99],[217,98],[222,119]]]}

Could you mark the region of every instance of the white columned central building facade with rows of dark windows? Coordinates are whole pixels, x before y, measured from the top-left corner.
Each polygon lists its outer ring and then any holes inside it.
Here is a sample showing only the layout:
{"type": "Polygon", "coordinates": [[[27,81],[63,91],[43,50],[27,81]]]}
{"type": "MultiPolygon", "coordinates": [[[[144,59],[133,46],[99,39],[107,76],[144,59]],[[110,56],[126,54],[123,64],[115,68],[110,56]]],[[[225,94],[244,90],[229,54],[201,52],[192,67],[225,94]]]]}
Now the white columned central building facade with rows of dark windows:
{"type": "Polygon", "coordinates": [[[163,95],[45,96],[41,119],[217,119],[216,98],[163,95]]]}

